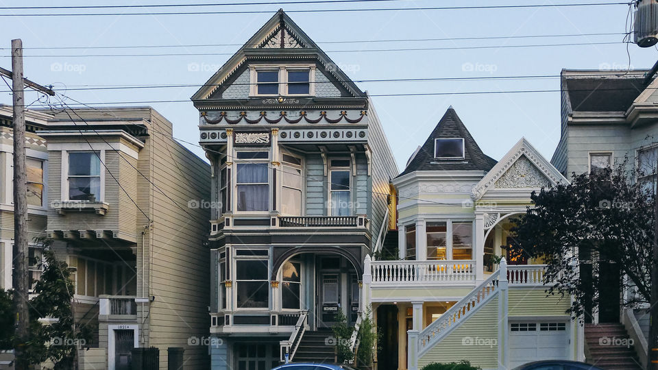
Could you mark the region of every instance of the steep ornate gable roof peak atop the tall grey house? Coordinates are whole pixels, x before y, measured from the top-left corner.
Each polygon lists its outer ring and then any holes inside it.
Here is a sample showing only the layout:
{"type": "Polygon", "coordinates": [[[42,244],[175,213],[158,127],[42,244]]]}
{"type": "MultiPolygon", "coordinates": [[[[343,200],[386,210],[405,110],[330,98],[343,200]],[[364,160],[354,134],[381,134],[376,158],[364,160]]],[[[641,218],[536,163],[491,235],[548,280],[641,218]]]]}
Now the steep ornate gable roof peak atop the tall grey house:
{"type": "Polygon", "coordinates": [[[249,57],[258,57],[260,62],[271,60],[281,55],[290,58],[315,58],[324,71],[336,79],[337,84],[343,86],[352,97],[364,97],[365,93],[341,71],[337,64],[322,51],[302,29],[280,9],[272,18],[258,29],[245,45],[243,45],[208,82],[199,88],[192,96],[193,101],[208,99],[218,90],[224,82],[240,69],[249,57]]]}

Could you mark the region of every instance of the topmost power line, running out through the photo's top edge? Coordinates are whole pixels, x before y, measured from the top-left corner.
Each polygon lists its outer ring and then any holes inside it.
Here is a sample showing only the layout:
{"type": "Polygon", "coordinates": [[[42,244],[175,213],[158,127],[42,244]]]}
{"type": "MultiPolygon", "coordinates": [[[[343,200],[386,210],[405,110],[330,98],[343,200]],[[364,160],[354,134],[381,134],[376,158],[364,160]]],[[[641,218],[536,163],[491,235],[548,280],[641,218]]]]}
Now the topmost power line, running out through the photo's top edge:
{"type": "Polygon", "coordinates": [[[238,6],[238,5],[288,5],[288,4],[319,4],[319,3],[374,3],[401,0],[309,0],[309,1],[274,1],[265,3],[193,3],[193,4],[145,4],[145,5],[69,5],[69,6],[3,6],[0,10],[45,10],[45,9],[129,9],[129,8],[192,8],[199,6],[238,6]]]}

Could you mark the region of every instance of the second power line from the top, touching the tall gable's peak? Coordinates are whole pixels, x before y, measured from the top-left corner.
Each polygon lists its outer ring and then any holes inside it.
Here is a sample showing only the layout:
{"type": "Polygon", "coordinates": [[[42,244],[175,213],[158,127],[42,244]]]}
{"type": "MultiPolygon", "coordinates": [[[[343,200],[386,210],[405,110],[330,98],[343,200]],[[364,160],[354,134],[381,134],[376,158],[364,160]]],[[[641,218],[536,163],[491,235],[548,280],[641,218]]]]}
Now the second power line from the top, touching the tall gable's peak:
{"type": "MultiPolygon", "coordinates": [[[[519,8],[566,8],[601,5],[632,5],[633,3],[571,3],[571,4],[526,4],[526,5],[480,5],[480,6],[441,6],[420,8],[363,8],[363,9],[312,9],[312,10],[287,10],[287,13],[326,13],[326,12],[401,12],[406,10],[482,10],[482,9],[519,9],[519,8]]],[[[23,14],[0,14],[0,16],[154,16],[154,15],[217,15],[217,14],[271,14],[271,10],[238,10],[234,12],[212,11],[212,12],[150,12],[150,13],[23,13],[23,14]]]]}

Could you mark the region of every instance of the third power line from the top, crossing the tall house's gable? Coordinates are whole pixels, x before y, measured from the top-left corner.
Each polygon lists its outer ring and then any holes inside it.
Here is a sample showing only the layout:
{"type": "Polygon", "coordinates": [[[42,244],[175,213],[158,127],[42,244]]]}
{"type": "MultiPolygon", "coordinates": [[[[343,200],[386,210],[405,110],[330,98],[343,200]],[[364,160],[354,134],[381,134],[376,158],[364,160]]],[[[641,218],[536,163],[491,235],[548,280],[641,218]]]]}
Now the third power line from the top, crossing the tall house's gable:
{"type": "MultiPolygon", "coordinates": [[[[378,39],[378,40],[333,40],[319,41],[318,44],[360,44],[371,42],[429,42],[429,41],[461,41],[461,40],[501,40],[514,38],[547,38],[547,37],[581,37],[581,36],[623,36],[628,32],[595,32],[591,34],[544,34],[544,35],[511,35],[511,36],[472,36],[472,37],[445,37],[445,38],[397,38],[397,39],[378,39]]],[[[25,50],[93,50],[93,49],[157,49],[157,48],[178,48],[178,47],[234,47],[245,46],[253,47],[254,45],[245,44],[192,44],[192,45],[106,45],[106,46],[60,46],[60,47],[25,47],[25,50]]],[[[0,47],[0,50],[9,50],[9,48],[0,47]]]]}

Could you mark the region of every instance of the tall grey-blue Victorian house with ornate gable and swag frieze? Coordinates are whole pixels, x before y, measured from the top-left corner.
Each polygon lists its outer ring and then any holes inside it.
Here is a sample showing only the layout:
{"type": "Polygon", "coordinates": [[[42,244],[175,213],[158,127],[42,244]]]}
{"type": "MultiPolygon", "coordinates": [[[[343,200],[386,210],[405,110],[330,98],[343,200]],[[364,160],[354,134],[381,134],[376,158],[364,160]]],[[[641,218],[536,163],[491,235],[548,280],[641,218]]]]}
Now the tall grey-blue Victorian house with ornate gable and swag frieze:
{"type": "Polygon", "coordinates": [[[334,361],[397,175],[361,91],[282,11],[192,97],[212,167],[212,369],[334,361]]]}

